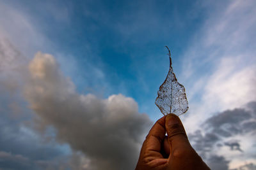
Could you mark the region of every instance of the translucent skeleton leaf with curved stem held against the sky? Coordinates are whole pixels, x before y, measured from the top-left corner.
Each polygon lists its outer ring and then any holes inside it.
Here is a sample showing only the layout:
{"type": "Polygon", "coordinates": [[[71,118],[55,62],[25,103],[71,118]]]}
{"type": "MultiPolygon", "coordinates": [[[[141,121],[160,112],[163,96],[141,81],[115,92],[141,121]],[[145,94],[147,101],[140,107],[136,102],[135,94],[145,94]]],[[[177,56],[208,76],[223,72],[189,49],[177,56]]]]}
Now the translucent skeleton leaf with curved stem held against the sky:
{"type": "Polygon", "coordinates": [[[179,116],[188,111],[188,100],[184,86],[177,81],[173,73],[171,53],[168,46],[166,48],[170,57],[170,69],[164,83],[159,87],[155,103],[163,115],[174,113],[179,116]]]}

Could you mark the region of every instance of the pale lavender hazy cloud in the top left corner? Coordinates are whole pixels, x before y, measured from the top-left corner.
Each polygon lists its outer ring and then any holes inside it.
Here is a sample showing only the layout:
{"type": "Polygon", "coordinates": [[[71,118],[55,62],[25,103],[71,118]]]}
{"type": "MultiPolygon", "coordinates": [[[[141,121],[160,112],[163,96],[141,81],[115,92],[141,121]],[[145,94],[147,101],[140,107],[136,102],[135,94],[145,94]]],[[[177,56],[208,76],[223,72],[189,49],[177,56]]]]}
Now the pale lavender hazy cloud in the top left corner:
{"type": "Polygon", "coordinates": [[[12,5],[10,1],[0,2],[0,34],[12,41],[26,57],[31,58],[38,49],[43,46],[49,49],[52,43],[38,29],[38,20],[27,15],[28,11],[20,7],[19,3],[12,5]]]}

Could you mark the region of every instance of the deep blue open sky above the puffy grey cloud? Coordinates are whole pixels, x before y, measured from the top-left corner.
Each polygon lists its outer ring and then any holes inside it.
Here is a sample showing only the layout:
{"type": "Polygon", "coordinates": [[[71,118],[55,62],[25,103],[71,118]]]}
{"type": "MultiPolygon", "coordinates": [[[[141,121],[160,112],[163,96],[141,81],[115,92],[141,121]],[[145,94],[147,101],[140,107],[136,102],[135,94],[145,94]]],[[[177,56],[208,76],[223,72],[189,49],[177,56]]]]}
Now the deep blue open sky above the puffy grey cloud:
{"type": "MultiPolygon", "coordinates": [[[[168,71],[164,46],[170,46],[173,67],[179,74],[191,32],[199,29],[206,17],[200,15],[204,7],[192,1],[49,1],[13,2],[12,6],[29,15],[36,31],[49,40],[36,46],[35,52],[60,55],[62,71],[72,78],[79,92],[88,89],[104,97],[122,93],[140,105],[147,100],[145,108],[154,103],[168,71]],[[70,62],[75,66],[68,66],[70,62]]],[[[156,111],[151,105],[147,112],[152,108],[156,111]]]]}

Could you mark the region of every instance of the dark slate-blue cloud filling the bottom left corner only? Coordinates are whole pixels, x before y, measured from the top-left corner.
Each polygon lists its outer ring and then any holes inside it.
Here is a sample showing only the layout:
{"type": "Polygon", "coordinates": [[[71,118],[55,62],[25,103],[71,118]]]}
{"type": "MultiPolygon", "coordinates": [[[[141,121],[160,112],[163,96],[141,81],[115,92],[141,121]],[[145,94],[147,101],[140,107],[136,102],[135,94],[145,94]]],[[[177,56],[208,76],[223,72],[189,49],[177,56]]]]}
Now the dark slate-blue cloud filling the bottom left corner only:
{"type": "Polygon", "coordinates": [[[3,104],[0,108],[0,169],[40,169],[37,162],[56,164],[60,162],[58,159],[68,160],[65,151],[56,143],[44,143],[40,136],[29,132],[20,122],[22,120],[8,117],[8,108],[3,104]]]}

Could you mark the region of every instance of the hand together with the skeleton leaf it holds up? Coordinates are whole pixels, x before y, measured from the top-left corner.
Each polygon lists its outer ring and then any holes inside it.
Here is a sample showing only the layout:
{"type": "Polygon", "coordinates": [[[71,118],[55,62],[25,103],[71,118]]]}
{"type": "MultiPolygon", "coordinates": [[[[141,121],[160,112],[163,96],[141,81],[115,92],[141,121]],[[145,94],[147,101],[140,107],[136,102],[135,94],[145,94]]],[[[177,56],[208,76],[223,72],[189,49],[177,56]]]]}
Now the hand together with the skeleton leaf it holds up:
{"type": "Polygon", "coordinates": [[[189,143],[179,118],[188,111],[188,100],[183,85],[173,73],[171,53],[170,69],[159,87],[156,106],[163,117],[148,132],[140,152],[136,170],[209,169],[189,143]],[[166,136],[167,133],[167,136],[166,136]]]}

